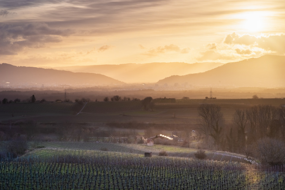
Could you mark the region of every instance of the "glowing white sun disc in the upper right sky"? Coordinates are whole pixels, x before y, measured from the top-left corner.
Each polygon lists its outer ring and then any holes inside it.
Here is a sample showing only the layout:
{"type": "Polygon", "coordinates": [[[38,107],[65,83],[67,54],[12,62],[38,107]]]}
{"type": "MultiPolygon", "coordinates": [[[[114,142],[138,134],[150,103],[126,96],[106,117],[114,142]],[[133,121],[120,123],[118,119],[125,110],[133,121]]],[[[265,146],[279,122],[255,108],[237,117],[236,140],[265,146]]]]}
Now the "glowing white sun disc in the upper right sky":
{"type": "Polygon", "coordinates": [[[241,15],[241,28],[248,33],[261,32],[264,29],[264,15],[261,12],[246,12],[241,15]]]}

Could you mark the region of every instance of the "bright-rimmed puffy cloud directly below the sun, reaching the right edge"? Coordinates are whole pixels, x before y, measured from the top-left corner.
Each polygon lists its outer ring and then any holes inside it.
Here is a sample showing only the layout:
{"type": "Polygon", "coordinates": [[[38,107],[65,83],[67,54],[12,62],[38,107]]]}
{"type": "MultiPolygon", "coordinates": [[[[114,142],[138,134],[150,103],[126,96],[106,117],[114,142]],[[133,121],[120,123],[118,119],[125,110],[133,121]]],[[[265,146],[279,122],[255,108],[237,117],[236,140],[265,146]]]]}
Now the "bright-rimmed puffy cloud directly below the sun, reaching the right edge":
{"type": "MultiPolygon", "coordinates": [[[[224,43],[228,45],[247,45],[252,47],[259,47],[267,51],[272,51],[276,53],[284,54],[285,52],[285,34],[272,34],[268,36],[253,36],[249,34],[228,34],[225,39],[224,43]]],[[[237,53],[239,53],[237,51],[237,53]]],[[[248,54],[242,53],[239,54],[248,54]]]]}

